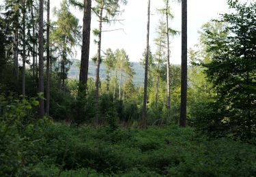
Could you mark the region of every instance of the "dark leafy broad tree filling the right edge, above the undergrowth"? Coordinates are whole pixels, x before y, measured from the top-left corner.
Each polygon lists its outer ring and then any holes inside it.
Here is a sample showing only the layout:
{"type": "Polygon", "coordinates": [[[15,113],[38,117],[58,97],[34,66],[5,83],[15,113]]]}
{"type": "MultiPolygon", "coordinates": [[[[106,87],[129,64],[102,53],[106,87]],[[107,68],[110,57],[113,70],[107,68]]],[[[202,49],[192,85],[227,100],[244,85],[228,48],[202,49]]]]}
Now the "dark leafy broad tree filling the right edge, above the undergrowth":
{"type": "Polygon", "coordinates": [[[233,13],[217,21],[227,25],[218,30],[209,24],[203,28],[210,61],[202,65],[218,93],[218,103],[223,105],[223,120],[228,119],[233,131],[242,129],[240,136],[251,139],[256,124],[256,3],[227,2],[233,13]]]}

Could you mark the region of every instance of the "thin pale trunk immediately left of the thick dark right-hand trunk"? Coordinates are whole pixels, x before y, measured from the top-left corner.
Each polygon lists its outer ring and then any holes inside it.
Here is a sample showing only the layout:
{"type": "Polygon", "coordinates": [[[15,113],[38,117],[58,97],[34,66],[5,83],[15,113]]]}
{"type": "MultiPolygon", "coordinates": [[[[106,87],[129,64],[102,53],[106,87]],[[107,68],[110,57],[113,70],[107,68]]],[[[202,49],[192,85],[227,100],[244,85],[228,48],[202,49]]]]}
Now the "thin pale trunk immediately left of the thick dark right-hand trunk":
{"type": "Polygon", "coordinates": [[[170,88],[170,44],[169,44],[169,0],[166,1],[166,20],[167,20],[167,109],[168,117],[171,112],[171,88],[170,88]]]}

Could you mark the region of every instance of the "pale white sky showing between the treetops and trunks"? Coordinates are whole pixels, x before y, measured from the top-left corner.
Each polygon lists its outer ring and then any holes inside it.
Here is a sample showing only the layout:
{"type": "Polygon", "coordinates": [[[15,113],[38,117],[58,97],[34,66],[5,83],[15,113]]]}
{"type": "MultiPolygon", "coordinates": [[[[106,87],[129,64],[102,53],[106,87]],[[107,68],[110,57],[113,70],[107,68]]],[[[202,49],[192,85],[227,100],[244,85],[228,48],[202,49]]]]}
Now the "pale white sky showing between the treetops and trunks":
{"type": "MultiPolygon", "coordinates": [[[[81,1],[81,0],[80,0],[81,1]]],[[[240,0],[246,1],[246,0],[240,0]]],[[[0,0],[3,3],[3,0],[0,0]]],[[[61,0],[51,0],[51,8],[59,8],[61,0]]],[[[170,1],[171,11],[175,18],[171,20],[171,28],[181,31],[181,4],[170,1]]],[[[151,0],[151,16],[150,16],[150,46],[154,54],[156,46],[154,39],[156,36],[156,27],[160,19],[160,15],[156,9],[164,7],[163,0],[151,0]]],[[[79,24],[83,25],[83,13],[74,7],[70,7],[72,13],[79,18],[79,24]]],[[[130,57],[130,61],[139,62],[146,46],[147,32],[147,0],[128,0],[126,6],[122,6],[124,12],[117,19],[124,19],[122,24],[116,22],[112,25],[103,25],[103,31],[112,29],[124,29],[119,31],[111,31],[102,33],[102,50],[111,48],[113,51],[117,48],[124,48],[130,57]]],[[[201,26],[213,18],[218,18],[219,14],[229,12],[225,0],[188,0],[188,48],[193,48],[197,44],[199,37],[198,31],[201,26]]],[[[51,12],[51,18],[53,13],[51,12]]],[[[98,19],[96,15],[91,18],[91,29],[98,27],[98,19]]],[[[94,44],[96,37],[91,34],[90,58],[97,52],[97,45],[94,44]]],[[[181,63],[181,35],[171,37],[171,63],[181,63]]],[[[81,45],[81,44],[80,44],[81,45]]],[[[75,59],[81,58],[81,47],[76,47],[75,59]]]]}

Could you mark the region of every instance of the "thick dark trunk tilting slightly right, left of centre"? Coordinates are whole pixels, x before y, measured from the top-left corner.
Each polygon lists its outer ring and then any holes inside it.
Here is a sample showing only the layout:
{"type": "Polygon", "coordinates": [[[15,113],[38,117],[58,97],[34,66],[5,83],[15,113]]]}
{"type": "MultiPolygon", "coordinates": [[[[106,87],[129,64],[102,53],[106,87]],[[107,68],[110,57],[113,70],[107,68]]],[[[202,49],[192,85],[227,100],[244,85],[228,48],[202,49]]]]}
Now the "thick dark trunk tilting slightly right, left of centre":
{"type": "MultiPolygon", "coordinates": [[[[87,85],[88,67],[89,67],[89,46],[91,35],[91,0],[84,0],[83,7],[83,45],[81,55],[81,69],[79,82],[82,85],[87,85]]],[[[83,88],[81,88],[83,90],[83,88]]],[[[80,89],[80,90],[81,90],[80,89]]]]}

